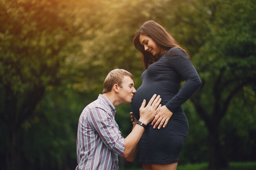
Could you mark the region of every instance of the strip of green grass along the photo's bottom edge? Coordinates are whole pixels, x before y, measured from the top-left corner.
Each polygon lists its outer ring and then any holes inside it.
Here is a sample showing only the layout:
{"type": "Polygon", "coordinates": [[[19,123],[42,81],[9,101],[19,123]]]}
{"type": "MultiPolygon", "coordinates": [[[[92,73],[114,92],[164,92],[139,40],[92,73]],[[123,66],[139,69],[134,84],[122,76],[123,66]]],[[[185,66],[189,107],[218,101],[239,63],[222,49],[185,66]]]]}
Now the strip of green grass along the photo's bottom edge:
{"type": "MultiPolygon", "coordinates": [[[[142,168],[129,168],[121,170],[142,170],[142,168]]],[[[207,163],[178,165],[177,170],[209,170],[207,163]]],[[[256,170],[256,162],[231,162],[229,168],[221,170],[256,170]]]]}

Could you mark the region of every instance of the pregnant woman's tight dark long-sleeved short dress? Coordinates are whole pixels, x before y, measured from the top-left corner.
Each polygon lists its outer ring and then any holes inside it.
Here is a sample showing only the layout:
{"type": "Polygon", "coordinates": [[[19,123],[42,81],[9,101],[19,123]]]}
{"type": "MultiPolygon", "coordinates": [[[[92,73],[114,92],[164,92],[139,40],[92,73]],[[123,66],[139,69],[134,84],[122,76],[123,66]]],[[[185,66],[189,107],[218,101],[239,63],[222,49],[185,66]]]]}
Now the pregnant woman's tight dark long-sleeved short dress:
{"type": "Polygon", "coordinates": [[[200,77],[189,57],[174,47],[159,57],[159,60],[141,75],[142,84],[132,100],[132,112],[139,120],[139,108],[154,95],[161,95],[162,106],[173,113],[165,128],[146,127],[139,141],[139,163],[174,163],[189,134],[189,124],[182,104],[201,85],[200,77]],[[180,89],[182,80],[186,82],[180,89]],[[179,91],[180,89],[180,91],[179,91]]]}

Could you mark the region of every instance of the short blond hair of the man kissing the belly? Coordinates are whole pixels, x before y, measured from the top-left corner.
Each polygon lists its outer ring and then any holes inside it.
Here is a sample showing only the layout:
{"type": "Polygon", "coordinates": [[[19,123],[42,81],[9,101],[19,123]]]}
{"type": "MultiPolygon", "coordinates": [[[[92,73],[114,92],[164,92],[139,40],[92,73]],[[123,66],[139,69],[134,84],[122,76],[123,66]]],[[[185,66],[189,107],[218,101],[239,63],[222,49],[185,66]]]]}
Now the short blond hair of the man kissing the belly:
{"type": "Polygon", "coordinates": [[[117,68],[108,73],[103,83],[103,94],[108,93],[112,90],[114,84],[121,86],[123,83],[124,76],[128,76],[133,79],[132,74],[124,69],[117,68]]]}

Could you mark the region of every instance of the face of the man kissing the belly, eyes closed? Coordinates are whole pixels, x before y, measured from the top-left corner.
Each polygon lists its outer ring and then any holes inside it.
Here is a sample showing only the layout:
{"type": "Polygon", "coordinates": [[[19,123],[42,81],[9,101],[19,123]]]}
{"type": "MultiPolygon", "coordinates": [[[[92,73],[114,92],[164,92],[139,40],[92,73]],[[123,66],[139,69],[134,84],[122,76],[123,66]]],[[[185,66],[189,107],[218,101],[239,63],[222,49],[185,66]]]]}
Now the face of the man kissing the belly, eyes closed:
{"type": "Polygon", "coordinates": [[[123,83],[119,87],[119,99],[121,100],[121,103],[132,103],[132,98],[135,93],[136,89],[134,88],[133,80],[128,76],[124,76],[123,83]]]}

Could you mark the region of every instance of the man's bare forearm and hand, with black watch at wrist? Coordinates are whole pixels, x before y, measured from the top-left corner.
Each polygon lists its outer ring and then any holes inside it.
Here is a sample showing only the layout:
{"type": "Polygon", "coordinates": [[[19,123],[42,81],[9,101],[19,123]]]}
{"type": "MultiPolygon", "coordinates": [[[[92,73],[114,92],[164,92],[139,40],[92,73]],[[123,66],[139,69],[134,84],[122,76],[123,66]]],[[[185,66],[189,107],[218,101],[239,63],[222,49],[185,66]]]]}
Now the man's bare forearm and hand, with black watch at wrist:
{"type": "MultiPolygon", "coordinates": [[[[143,101],[141,104],[141,107],[139,108],[139,114],[140,118],[139,121],[147,125],[150,121],[153,120],[156,112],[159,110],[159,105],[161,102],[161,98],[158,95],[153,95],[153,97],[148,102],[148,105],[146,105],[146,100],[143,101]],[[156,98],[155,98],[156,97],[156,98]]],[[[125,140],[125,149],[123,158],[127,161],[133,161],[135,157],[135,153],[137,150],[137,145],[139,143],[139,139],[141,138],[145,128],[143,126],[140,126],[139,124],[134,123],[134,128],[132,132],[124,139],[125,140]]]]}

